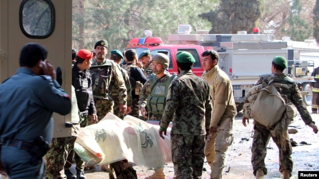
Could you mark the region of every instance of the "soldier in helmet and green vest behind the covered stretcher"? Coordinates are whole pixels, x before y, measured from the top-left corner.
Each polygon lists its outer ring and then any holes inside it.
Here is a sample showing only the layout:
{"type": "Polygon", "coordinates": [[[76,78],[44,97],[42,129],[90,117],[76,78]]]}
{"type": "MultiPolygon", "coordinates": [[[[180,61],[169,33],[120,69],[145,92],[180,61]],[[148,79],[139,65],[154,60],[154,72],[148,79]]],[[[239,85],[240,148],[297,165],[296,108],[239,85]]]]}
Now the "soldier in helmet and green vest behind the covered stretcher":
{"type": "Polygon", "coordinates": [[[169,58],[167,55],[157,53],[153,56],[153,74],[149,75],[138,101],[139,110],[147,120],[160,121],[162,118],[168,87],[171,81],[177,77],[176,74],[172,76],[165,70],[168,65],[169,58]]]}

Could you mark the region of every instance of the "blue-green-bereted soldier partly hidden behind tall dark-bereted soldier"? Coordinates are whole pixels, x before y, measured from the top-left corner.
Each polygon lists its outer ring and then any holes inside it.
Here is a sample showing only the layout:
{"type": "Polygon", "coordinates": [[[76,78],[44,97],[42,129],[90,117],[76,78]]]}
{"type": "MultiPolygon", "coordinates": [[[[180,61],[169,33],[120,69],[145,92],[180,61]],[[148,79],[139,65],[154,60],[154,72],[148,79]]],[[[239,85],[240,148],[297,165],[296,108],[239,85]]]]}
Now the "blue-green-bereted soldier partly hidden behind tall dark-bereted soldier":
{"type": "MultiPolygon", "coordinates": [[[[119,50],[111,50],[111,56],[110,59],[113,60],[116,64],[120,65],[121,60],[124,59],[123,54],[119,51],[119,50]]],[[[124,83],[125,83],[125,87],[128,91],[128,97],[127,97],[127,107],[128,110],[125,114],[129,114],[132,110],[132,93],[129,92],[131,91],[131,84],[130,84],[130,79],[129,79],[129,75],[126,72],[126,70],[124,70],[123,68],[120,68],[122,75],[123,75],[123,79],[124,79],[124,83]]],[[[114,86],[111,87],[111,95],[112,95],[112,99],[114,100],[114,114],[116,116],[118,116],[119,118],[123,119],[124,115],[120,112],[120,101],[118,98],[118,93],[116,91],[116,89],[114,88],[114,86]]]]}

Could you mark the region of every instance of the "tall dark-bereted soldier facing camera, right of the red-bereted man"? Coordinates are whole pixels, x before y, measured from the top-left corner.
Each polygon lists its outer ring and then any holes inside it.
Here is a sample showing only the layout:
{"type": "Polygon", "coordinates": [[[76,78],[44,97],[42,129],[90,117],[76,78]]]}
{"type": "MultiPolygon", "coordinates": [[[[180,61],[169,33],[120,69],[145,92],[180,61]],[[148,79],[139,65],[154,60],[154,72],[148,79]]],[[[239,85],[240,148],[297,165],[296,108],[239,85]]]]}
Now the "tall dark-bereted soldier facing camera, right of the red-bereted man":
{"type": "Polygon", "coordinates": [[[107,41],[100,40],[94,45],[96,59],[92,60],[90,73],[92,76],[93,97],[98,120],[102,120],[106,113],[113,113],[114,102],[110,97],[110,87],[114,86],[120,101],[120,112],[127,111],[127,89],[124,84],[120,67],[112,60],[106,59],[107,41]]]}

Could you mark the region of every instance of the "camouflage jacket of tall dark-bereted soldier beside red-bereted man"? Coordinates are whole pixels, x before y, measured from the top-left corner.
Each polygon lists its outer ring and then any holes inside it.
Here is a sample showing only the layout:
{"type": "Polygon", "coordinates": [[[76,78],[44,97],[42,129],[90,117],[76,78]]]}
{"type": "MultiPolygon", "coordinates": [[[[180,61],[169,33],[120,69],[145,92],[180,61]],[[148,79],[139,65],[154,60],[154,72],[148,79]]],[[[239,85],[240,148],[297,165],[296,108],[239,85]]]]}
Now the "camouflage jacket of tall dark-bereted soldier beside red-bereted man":
{"type": "Polygon", "coordinates": [[[124,84],[123,75],[121,72],[121,69],[118,65],[116,65],[112,60],[105,59],[102,63],[98,62],[96,59],[92,60],[92,65],[90,67],[90,73],[92,77],[92,89],[93,89],[93,97],[99,98],[99,99],[109,99],[110,94],[110,87],[114,86],[115,90],[118,93],[118,98],[120,101],[120,104],[126,104],[127,101],[127,89],[124,84]],[[102,82],[103,85],[106,87],[103,88],[103,90],[97,90],[99,83],[101,82],[101,79],[98,77],[95,77],[97,74],[97,70],[104,70],[107,67],[107,64],[110,64],[110,70],[109,71],[109,80],[108,82],[104,81],[102,82]],[[95,70],[91,70],[94,67],[101,66],[98,68],[95,68],[95,70]],[[99,91],[97,93],[96,91],[99,91]]]}

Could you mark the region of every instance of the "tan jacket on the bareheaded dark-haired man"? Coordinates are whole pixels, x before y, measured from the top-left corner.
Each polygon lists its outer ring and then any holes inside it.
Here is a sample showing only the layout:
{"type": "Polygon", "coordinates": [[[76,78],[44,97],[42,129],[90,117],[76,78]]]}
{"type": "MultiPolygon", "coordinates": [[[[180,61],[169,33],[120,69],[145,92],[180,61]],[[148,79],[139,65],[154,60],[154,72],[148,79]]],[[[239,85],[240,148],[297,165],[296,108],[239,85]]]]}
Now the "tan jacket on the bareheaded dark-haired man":
{"type": "Polygon", "coordinates": [[[237,111],[233,87],[228,75],[216,65],[211,71],[204,71],[202,79],[211,87],[213,103],[211,127],[217,127],[223,119],[234,118],[237,111]]]}

